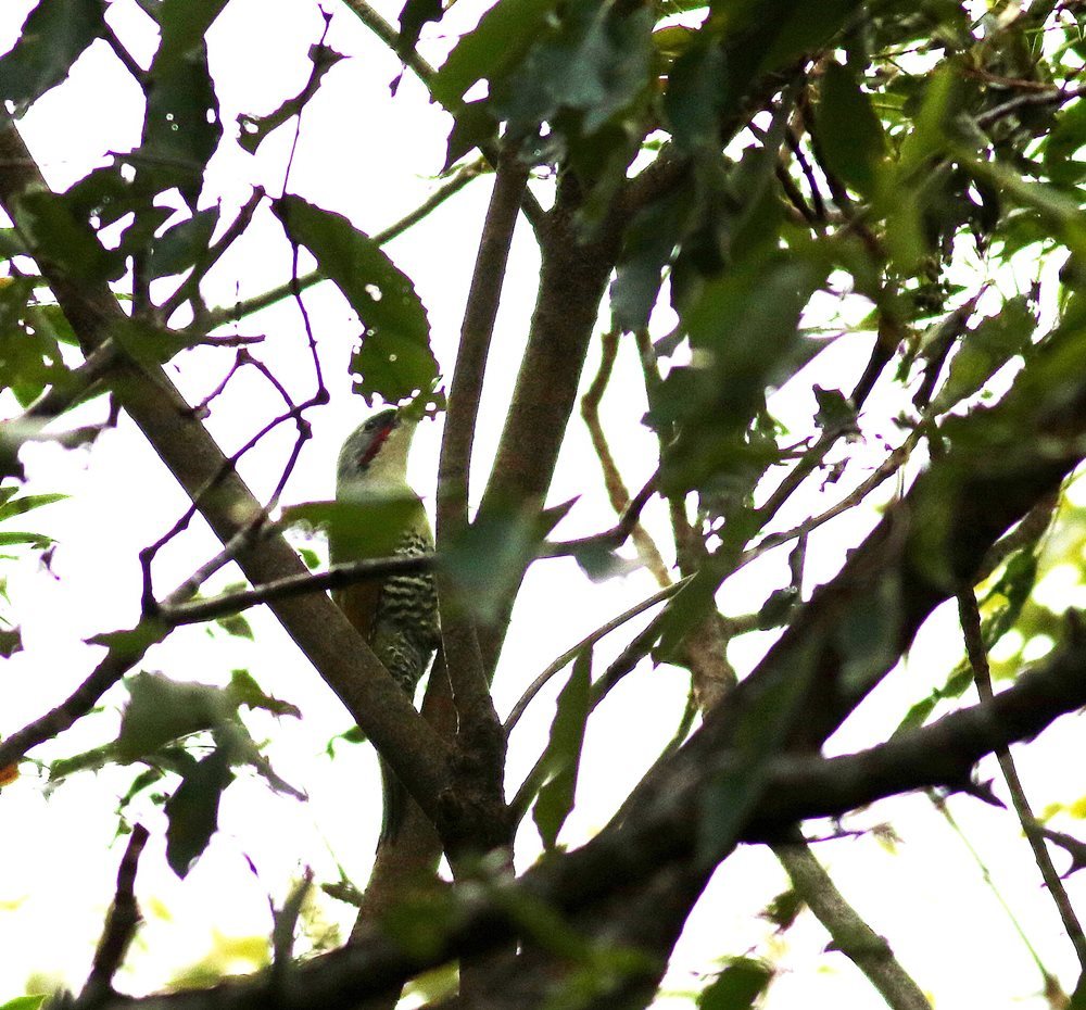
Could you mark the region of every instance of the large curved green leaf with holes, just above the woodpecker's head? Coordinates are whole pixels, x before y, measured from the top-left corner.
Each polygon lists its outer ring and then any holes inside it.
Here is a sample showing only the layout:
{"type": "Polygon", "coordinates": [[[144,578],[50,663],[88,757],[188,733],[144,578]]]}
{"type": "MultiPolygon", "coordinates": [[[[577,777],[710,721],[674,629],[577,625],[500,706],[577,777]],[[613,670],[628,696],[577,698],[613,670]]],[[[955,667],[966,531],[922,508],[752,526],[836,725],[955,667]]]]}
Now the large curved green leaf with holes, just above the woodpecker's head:
{"type": "Polygon", "coordinates": [[[293,195],[273,206],[290,240],[313,253],[362,319],[362,346],[351,363],[358,392],[367,402],[380,393],[394,403],[432,388],[438,363],[426,310],[411,278],[341,214],[293,195]]]}

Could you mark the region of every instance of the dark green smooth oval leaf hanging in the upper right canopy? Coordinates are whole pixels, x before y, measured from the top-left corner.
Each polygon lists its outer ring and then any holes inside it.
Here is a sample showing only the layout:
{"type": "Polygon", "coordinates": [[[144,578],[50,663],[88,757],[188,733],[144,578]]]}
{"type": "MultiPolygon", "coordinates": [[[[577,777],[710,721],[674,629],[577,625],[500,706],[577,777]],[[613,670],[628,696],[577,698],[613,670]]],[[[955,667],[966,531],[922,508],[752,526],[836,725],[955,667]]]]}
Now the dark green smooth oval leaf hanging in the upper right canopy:
{"type": "Polygon", "coordinates": [[[856,75],[830,63],[821,78],[818,137],[830,167],[857,191],[870,194],[886,155],[882,123],[856,75]]]}

